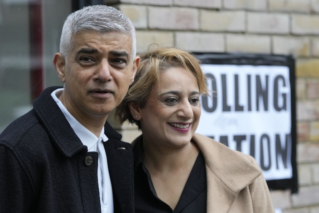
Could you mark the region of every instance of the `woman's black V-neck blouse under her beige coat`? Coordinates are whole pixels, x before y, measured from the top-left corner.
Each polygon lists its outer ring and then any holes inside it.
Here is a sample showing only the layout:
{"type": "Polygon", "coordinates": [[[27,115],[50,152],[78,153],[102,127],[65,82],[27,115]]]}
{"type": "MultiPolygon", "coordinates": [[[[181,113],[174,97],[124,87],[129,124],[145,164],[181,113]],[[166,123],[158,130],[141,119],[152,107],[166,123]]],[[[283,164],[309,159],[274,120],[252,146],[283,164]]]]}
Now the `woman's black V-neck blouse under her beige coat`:
{"type": "Polygon", "coordinates": [[[174,210],[160,200],[143,162],[142,137],[134,148],[134,200],[136,213],[205,213],[207,200],[206,169],[203,154],[197,156],[179,202],[174,210]]]}

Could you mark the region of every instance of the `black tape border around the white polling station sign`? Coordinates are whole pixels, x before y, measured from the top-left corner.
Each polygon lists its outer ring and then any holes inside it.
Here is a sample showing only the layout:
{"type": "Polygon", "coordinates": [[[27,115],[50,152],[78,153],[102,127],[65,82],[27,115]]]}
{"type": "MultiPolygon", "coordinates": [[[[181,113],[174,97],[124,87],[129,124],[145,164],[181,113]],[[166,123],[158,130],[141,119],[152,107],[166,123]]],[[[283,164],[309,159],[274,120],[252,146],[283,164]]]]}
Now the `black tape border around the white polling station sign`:
{"type": "Polygon", "coordinates": [[[270,190],[290,189],[291,193],[298,192],[298,174],[296,162],[297,133],[296,133],[296,97],[295,97],[295,58],[292,55],[266,55],[266,54],[244,54],[244,53],[200,53],[193,54],[202,64],[219,65],[269,65],[289,67],[290,89],[291,89],[291,165],[293,177],[291,179],[268,180],[270,190]]]}

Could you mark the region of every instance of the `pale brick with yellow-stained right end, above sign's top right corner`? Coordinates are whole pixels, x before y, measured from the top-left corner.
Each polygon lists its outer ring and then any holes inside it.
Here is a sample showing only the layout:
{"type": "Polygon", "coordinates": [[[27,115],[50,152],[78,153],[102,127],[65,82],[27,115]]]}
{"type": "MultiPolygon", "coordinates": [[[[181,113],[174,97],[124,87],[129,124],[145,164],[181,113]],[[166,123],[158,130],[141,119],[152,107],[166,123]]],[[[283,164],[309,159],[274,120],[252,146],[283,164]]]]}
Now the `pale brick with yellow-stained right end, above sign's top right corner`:
{"type": "Polygon", "coordinates": [[[272,49],[274,54],[295,56],[310,55],[310,40],[305,37],[273,36],[272,49]]]}

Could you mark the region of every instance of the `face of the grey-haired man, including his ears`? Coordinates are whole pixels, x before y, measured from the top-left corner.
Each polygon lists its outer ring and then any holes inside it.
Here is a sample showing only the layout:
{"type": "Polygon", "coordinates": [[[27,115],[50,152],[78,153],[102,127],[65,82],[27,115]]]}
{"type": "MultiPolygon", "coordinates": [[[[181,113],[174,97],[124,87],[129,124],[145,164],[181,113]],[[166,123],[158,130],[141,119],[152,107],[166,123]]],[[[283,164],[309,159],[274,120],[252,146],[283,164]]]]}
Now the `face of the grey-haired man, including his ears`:
{"type": "Polygon", "coordinates": [[[133,61],[131,37],[120,32],[81,31],[73,41],[64,64],[61,55],[54,59],[65,83],[60,100],[76,118],[107,117],[134,80],[139,58],[133,61]]]}

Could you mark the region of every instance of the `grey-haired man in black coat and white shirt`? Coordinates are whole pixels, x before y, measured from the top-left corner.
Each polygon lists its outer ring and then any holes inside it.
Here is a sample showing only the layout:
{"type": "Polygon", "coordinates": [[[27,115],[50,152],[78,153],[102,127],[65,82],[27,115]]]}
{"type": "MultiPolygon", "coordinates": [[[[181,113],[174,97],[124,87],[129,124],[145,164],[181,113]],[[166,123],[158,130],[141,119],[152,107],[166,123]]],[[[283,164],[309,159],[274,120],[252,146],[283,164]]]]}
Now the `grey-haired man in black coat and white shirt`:
{"type": "Polygon", "coordinates": [[[134,212],[133,157],[106,122],[139,65],[135,29],[105,5],[71,13],[49,87],[0,135],[0,212],[134,212]]]}

